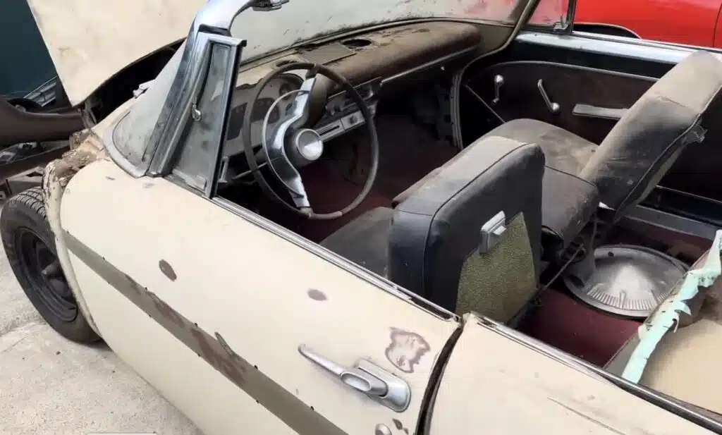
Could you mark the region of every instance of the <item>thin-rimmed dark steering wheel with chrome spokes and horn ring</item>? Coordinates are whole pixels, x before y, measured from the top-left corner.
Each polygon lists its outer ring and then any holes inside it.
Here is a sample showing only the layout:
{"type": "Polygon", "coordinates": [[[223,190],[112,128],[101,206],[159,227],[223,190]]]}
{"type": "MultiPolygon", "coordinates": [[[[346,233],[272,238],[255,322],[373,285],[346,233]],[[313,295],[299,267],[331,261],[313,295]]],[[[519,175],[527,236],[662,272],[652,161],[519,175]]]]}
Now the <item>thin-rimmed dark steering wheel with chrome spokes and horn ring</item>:
{"type": "MultiPolygon", "coordinates": [[[[376,133],[376,127],[373,123],[373,115],[368,109],[361,95],[353,87],[347,79],[336,73],[336,71],[316,63],[289,63],[284,66],[280,66],[267,74],[261,82],[256,85],[256,92],[253,92],[253,97],[248,102],[247,110],[243,116],[243,128],[242,128],[242,141],[245,159],[248,161],[248,168],[253,173],[253,178],[256,180],[261,189],[264,190],[266,195],[269,195],[275,201],[281,203],[284,208],[292,211],[292,213],[303,216],[308,219],[316,220],[328,220],[338,219],[349,211],[359,206],[360,203],[366,198],[370,192],[374,181],[376,180],[376,173],[378,172],[378,134],[376,133]],[[273,102],[269,110],[266,112],[264,123],[261,128],[261,145],[263,146],[263,154],[260,157],[256,157],[253,152],[253,141],[251,139],[251,120],[253,114],[253,107],[256,104],[256,100],[261,95],[266,84],[272,79],[284,74],[288,71],[296,71],[300,69],[308,70],[306,73],[303,84],[300,89],[288,92],[285,95],[279,97],[273,102]],[[370,148],[371,148],[371,167],[366,177],[366,182],[357,195],[357,197],[349,203],[348,206],[342,208],[339,211],[333,213],[317,214],[311,208],[308,201],[308,195],[306,195],[305,186],[303,180],[298,172],[299,167],[305,166],[311,162],[315,162],[321,157],[323,153],[323,140],[321,135],[313,128],[309,128],[308,124],[316,122],[317,119],[314,115],[323,113],[326,105],[326,97],[324,96],[321,100],[314,100],[313,89],[317,84],[318,75],[325,76],[331,79],[332,82],[339,84],[347,92],[352,100],[358,105],[361,110],[361,114],[365,120],[366,128],[370,136],[370,148]],[[274,123],[274,126],[269,129],[269,118],[274,109],[280,104],[280,102],[287,100],[287,98],[293,97],[289,107],[282,113],[281,118],[274,123]],[[319,107],[320,105],[320,107],[319,107]],[[279,194],[271,188],[268,181],[261,174],[260,167],[258,165],[258,159],[268,164],[271,169],[271,173],[277,177],[282,183],[284,188],[288,190],[293,205],[288,201],[285,201],[279,196],[279,194]]],[[[323,92],[325,94],[325,92],[323,92]]],[[[282,110],[283,112],[283,110],[282,110]]],[[[318,117],[316,117],[318,118],[318,117]]]]}

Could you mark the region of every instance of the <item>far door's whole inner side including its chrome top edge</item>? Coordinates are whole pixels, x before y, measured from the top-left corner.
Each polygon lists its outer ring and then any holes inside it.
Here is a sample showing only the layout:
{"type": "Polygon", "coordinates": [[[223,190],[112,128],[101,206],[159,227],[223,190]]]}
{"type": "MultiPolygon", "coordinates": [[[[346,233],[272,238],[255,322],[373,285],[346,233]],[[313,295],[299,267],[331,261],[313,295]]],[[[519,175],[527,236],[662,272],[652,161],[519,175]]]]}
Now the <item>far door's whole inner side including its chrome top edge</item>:
{"type": "MultiPolygon", "coordinates": [[[[572,35],[522,32],[507,50],[469,68],[465,80],[466,86],[501,120],[535,118],[599,144],[614,126],[614,119],[575,115],[575,106],[578,113],[588,109],[579,105],[592,106],[597,113],[630,107],[656,79],[698,49],[583,32],[572,35]],[[503,85],[495,105],[496,75],[503,76],[503,85]],[[556,115],[541,96],[540,79],[549,100],[559,105],[556,115]]],[[[691,82],[690,87],[693,86],[691,82]]],[[[719,105],[719,110],[710,113],[722,115],[722,104],[719,105]]],[[[464,115],[462,123],[471,124],[470,116],[474,115],[464,115]]],[[[722,201],[722,183],[718,182],[722,123],[716,119],[703,120],[703,127],[707,129],[705,140],[688,146],[660,184],[722,201]]],[[[465,139],[466,135],[467,132],[465,139]]]]}

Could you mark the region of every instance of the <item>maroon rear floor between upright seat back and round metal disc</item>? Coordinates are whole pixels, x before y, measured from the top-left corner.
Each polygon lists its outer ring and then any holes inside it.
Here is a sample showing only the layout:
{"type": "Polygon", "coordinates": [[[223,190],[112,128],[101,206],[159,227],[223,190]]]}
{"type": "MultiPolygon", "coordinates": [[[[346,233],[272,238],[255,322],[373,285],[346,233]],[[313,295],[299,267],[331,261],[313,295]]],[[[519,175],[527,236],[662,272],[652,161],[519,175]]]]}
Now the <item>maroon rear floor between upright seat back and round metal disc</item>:
{"type": "Polygon", "coordinates": [[[641,324],[593,309],[554,289],[541,294],[540,304],[519,330],[598,366],[604,366],[641,324]]]}

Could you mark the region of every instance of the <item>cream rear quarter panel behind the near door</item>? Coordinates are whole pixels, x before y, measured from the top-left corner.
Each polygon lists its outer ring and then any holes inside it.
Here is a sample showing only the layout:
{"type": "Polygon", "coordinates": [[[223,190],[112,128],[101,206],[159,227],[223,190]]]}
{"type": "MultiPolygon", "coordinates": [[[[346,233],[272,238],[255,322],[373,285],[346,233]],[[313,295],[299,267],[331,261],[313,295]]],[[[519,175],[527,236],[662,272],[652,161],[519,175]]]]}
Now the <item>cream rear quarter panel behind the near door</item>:
{"type": "Polygon", "coordinates": [[[441,378],[430,435],[474,429],[487,435],[713,434],[494,328],[466,315],[441,378]]]}

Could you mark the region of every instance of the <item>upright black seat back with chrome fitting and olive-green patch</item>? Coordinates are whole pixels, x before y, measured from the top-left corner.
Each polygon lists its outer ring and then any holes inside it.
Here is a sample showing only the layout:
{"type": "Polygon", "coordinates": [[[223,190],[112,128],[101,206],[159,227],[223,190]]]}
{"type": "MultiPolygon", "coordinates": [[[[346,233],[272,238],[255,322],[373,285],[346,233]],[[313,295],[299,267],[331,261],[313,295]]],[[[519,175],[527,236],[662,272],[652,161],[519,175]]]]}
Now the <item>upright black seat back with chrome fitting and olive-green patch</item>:
{"type": "Polygon", "coordinates": [[[538,284],[544,153],[478,142],[396,206],[388,277],[451,311],[507,322],[538,284]]]}

